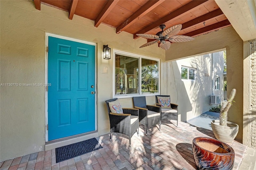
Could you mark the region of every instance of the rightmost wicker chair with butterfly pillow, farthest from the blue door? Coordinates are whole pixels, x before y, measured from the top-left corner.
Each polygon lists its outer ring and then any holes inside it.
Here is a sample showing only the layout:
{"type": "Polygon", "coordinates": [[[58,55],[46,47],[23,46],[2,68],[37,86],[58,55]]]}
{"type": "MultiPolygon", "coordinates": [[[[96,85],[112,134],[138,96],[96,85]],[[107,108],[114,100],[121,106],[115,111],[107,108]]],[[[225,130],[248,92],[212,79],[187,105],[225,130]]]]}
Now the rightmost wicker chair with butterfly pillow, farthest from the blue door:
{"type": "MultiPolygon", "coordinates": [[[[161,106],[161,102],[158,101],[159,97],[169,97],[170,95],[156,95],[156,105],[161,106]]],[[[171,108],[166,109],[161,107],[161,121],[162,120],[175,120],[177,121],[177,127],[178,127],[178,105],[174,103],[170,103],[171,108]]]]}

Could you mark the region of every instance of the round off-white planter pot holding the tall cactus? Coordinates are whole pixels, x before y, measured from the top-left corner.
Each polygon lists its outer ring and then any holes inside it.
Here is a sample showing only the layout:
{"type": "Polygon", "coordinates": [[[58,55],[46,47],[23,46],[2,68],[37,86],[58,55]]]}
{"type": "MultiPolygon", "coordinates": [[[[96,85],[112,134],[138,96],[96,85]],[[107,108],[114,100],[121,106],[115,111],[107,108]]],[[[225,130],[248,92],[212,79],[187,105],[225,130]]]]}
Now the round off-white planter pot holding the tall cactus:
{"type": "Polygon", "coordinates": [[[215,137],[222,142],[232,142],[238,133],[239,126],[236,123],[227,122],[228,126],[220,125],[219,120],[211,122],[212,131],[215,137]]]}

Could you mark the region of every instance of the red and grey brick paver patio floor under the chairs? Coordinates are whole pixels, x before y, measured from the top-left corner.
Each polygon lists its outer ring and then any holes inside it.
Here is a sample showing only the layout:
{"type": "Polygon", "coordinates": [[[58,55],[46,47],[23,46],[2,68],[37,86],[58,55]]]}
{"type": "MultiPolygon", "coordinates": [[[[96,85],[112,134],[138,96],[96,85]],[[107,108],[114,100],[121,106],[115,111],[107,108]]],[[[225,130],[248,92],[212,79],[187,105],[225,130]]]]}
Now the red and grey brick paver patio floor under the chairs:
{"type": "MultiPolygon", "coordinates": [[[[175,124],[175,121],[173,122],[175,124]]],[[[109,134],[97,139],[103,148],[56,163],[55,149],[21,156],[0,162],[1,170],[194,170],[192,140],[198,136],[213,137],[211,130],[192,127],[179,122],[178,127],[163,121],[161,130],[152,126],[148,135],[140,125],[140,136],[132,136],[132,146],[122,134],[109,134]]],[[[238,169],[246,146],[239,142],[228,143],[235,150],[233,169],[238,169]]]]}

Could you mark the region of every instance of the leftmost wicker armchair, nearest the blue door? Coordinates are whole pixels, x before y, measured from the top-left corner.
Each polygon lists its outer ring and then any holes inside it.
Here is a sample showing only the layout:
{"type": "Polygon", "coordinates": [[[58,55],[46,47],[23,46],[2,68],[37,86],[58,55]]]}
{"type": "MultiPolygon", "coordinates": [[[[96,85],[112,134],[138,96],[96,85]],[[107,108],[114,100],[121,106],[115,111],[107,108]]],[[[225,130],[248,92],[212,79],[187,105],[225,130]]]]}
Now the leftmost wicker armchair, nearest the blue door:
{"type": "Polygon", "coordinates": [[[128,136],[131,146],[132,135],[137,132],[139,136],[139,111],[133,108],[122,108],[124,114],[111,113],[108,103],[116,100],[117,98],[106,101],[110,121],[110,139],[112,138],[113,132],[125,134],[128,136]]]}

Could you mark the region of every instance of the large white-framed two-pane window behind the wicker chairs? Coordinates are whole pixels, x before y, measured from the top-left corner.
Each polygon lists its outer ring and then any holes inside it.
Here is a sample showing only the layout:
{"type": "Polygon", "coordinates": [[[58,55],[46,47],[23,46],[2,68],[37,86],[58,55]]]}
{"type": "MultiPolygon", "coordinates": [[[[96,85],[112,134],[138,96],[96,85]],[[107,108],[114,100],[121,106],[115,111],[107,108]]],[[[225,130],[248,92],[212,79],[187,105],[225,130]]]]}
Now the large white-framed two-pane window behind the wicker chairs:
{"type": "Polygon", "coordinates": [[[117,50],[114,55],[115,96],[159,92],[159,60],[117,50]]]}

